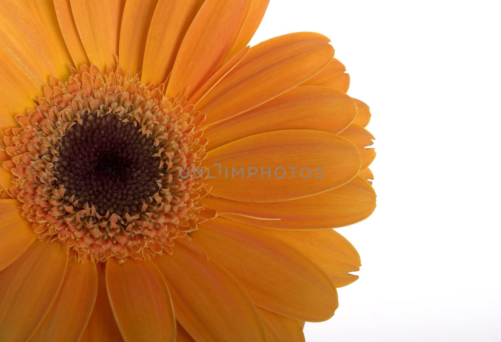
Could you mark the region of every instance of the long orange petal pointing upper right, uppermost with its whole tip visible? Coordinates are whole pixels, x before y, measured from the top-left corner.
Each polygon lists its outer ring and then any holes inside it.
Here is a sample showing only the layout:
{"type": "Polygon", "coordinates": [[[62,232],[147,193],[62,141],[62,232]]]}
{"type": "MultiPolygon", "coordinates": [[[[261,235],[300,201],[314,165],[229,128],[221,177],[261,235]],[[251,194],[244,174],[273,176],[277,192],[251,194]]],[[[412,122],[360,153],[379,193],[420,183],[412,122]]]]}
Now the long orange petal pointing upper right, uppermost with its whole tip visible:
{"type": "Polygon", "coordinates": [[[331,60],[334,49],[319,33],[299,32],[266,40],[249,53],[200,103],[206,125],[255,108],[310,79],[331,60]]]}

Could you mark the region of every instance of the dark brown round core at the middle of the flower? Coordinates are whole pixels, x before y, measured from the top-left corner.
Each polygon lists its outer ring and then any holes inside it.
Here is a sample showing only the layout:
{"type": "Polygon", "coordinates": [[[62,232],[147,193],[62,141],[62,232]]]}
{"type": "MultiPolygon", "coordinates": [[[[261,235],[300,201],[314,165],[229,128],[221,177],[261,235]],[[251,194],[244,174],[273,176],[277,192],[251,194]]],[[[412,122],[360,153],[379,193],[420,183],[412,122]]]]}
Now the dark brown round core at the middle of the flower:
{"type": "Polygon", "coordinates": [[[56,184],[77,208],[94,205],[104,215],[134,214],[150,203],[162,179],[159,147],[133,122],[116,114],[81,115],[61,138],[56,184]]]}

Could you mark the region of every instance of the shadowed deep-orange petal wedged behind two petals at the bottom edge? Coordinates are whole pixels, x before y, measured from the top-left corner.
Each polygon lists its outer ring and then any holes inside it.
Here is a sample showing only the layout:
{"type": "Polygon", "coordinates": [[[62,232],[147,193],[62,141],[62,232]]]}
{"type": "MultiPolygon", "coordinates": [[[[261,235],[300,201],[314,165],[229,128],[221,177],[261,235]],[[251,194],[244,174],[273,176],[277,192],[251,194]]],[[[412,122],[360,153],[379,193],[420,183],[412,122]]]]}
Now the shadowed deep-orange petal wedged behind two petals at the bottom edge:
{"type": "Polygon", "coordinates": [[[80,342],[120,342],[122,334],[118,329],[110,306],[104,269],[98,273],[96,303],[80,342]]]}

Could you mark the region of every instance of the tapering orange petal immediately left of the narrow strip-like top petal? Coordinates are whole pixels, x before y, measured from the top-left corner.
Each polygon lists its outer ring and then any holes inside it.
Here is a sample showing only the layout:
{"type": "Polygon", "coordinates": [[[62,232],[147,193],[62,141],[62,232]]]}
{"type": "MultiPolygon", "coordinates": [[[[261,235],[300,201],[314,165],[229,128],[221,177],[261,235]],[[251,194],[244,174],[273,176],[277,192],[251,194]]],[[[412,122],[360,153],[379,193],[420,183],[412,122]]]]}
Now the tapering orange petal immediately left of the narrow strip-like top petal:
{"type": "Polygon", "coordinates": [[[58,18],[56,15],[56,10],[54,8],[53,0],[23,0],[23,2],[28,6],[30,12],[37,18],[38,22],[44,29],[47,40],[54,46],[54,51],[59,62],[58,65],[62,66],[61,70],[63,79],[70,75],[69,66],[73,66],[73,60],[71,58],[68,47],[66,47],[66,42],[59,28],[58,18]]]}

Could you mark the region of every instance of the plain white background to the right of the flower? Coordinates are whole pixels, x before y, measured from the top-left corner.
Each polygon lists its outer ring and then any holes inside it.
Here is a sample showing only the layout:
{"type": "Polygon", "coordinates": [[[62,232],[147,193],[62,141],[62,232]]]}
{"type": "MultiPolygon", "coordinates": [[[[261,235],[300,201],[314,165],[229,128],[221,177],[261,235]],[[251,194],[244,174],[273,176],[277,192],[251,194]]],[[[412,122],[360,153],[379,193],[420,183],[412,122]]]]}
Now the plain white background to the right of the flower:
{"type": "Polygon", "coordinates": [[[332,319],[307,323],[307,341],[501,341],[495,3],[271,0],[252,44],[329,36],[378,152],[376,211],[337,229],[360,279],[332,319]]]}

